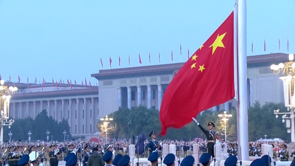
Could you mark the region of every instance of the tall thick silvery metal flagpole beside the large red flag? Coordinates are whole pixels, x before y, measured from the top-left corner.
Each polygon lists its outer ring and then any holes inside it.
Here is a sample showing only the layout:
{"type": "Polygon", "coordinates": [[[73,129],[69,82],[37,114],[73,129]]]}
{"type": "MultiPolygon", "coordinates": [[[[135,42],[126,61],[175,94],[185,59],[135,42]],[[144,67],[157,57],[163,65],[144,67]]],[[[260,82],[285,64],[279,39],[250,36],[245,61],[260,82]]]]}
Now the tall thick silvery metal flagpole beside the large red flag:
{"type": "Polygon", "coordinates": [[[246,0],[236,0],[237,4],[237,132],[238,157],[248,161],[248,102],[247,102],[247,50],[246,50],[246,0]]]}

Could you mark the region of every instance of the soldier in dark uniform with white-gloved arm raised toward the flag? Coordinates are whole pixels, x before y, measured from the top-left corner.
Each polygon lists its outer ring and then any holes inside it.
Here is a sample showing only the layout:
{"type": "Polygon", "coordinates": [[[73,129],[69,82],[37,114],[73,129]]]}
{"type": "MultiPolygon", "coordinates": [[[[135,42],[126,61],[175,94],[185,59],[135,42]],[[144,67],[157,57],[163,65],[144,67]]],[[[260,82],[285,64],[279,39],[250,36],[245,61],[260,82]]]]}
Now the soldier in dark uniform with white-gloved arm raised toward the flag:
{"type": "Polygon", "coordinates": [[[207,152],[209,154],[211,154],[212,158],[214,158],[214,145],[215,145],[215,132],[213,131],[213,128],[215,127],[214,123],[209,122],[208,123],[208,128],[209,130],[204,129],[200,123],[198,123],[198,121],[195,118],[192,118],[197,125],[199,126],[199,128],[201,128],[201,130],[204,132],[204,134],[207,137],[208,143],[207,143],[207,152]]]}

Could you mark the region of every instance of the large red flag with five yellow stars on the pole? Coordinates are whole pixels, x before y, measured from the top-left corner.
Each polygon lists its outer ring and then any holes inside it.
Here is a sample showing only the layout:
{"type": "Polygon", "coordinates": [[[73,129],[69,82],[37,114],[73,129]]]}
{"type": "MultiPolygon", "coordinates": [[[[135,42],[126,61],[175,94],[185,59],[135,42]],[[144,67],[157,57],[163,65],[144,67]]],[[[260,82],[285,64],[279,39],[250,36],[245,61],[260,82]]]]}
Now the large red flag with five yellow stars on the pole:
{"type": "Polygon", "coordinates": [[[172,79],[160,108],[161,135],[235,96],[233,28],[232,12],[172,79]]]}

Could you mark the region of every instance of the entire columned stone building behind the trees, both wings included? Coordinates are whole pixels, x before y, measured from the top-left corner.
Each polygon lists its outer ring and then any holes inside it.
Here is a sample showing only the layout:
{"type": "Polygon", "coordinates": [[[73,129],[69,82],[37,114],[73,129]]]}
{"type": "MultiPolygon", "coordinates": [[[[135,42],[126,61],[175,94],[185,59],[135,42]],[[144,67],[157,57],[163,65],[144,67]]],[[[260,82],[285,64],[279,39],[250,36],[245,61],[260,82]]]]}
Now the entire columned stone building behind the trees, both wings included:
{"type": "MultiPolygon", "coordinates": [[[[283,84],[280,76],[273,74],[271,64],[288,61],[288,54],[271,53],[247,57],[248,103],[255,101],[283,102],[283,84]]],[[[146,106],[159,110],[163,93],[183,63],[99,70],[91,74],[97,86],[55,83],[15,83],[17,94],[10,104],[13,119],[35,118],[42,110],[58,122],[67,119],[73,136],[89,136],[97,132],[98,117],[108,115],[119,107],[146,106]]],[[[214,79],[214,78],[212,78],[214,79]]],[[[14,85],[12,82],[6,85],[14,85]]],[[[220,87],[222,88],[222,87],[220,87]]],[[[213,111],[230,110],[235,100],[210,108],[213,111]]]]}

